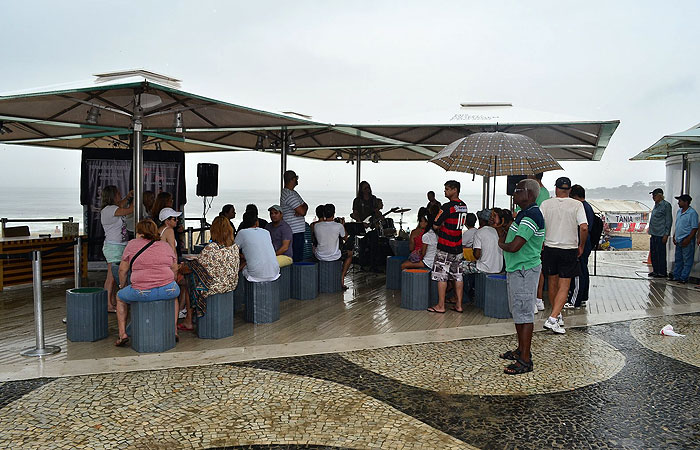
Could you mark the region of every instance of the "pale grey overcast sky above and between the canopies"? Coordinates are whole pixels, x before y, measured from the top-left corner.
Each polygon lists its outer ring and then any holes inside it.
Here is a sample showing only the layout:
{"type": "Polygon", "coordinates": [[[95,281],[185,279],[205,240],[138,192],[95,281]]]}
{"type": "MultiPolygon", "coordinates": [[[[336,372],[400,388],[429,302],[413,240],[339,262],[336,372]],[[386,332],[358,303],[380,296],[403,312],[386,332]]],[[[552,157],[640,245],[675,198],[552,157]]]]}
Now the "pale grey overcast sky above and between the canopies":
{"type": "MultiPolygon", "coordinates": [[[[0,92],[145,68],[188,92],[333,122],[507,101],[619,119],[601,162],[564,164],[585,187],[617,186],[665,179],[663,162],[628,159],[700,122],[699,10],[697,1],[6,2],[0,92]]],[[[0,145],[0,158],[0,185],[78,185],[79,151],[0,145]]],[[[190,186],[197,162],[220,164],[221,188],[278,185],[273,155],[186,158],[190,186]]],[[[348,164],[290,158],[289,167],[307,189],[354,187],[348,164]]],[[[363,169],[375,191],[438,190],[455,177],[425,162],[363,169]]]]}

